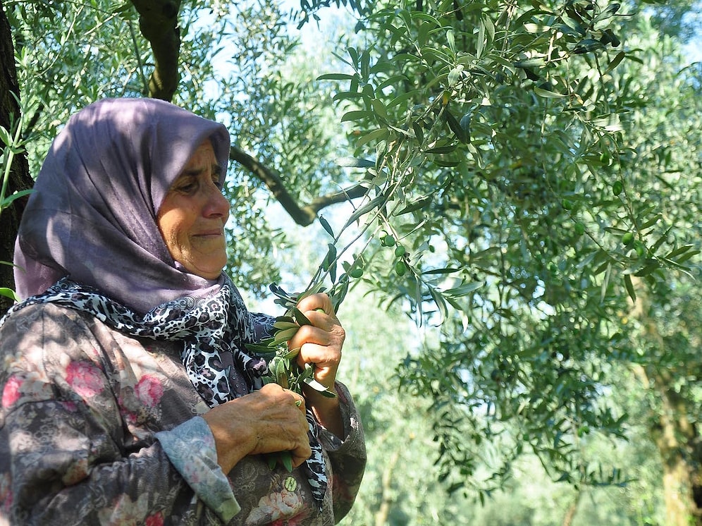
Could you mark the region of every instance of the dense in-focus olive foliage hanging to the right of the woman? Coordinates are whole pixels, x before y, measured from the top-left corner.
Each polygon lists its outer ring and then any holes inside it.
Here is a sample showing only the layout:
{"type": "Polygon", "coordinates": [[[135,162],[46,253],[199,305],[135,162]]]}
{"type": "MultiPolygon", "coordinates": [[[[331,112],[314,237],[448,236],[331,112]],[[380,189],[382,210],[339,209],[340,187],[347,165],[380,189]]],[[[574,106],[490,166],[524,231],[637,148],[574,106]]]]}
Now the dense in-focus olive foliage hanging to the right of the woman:
{"type": "MultiPolygon", "coordinates": [[[[623,484],[579,444],[625,432],[626,415],[604,394],[611,362],[643,359],[620,330],[627,296],[636,301],[635,282],[659,287],[699,264],[699,237],[686,228],[698,217],[698,178],[655,183],[663,152],[629,134],[643,119],[672,118],[644,111],[665,104],[649,99],[665,84],[644,70],[679,75],[676,107],[691,114],[698,79],[658,61],[665,51],[650,42],[646,56],[640,42],[622,42],[632,23],[620,4],[425,5],[378,5],[364,26],[376,39],[348,50],[352,72],[322,77],[343,82],[335,100],[358,137],[351,164],[367,169],[352,219],[369,217],[362,228],[381,241],[354,267],[441,325],[441,341],[400,369],[402,384],[434,402],[452,489],[484,500],[524,451],[554,479],[623,484]],[[656,67],[639,68],[644,59],[656,67]],[[671,200],[684,221],[666,212],[671,200]],[[488,444],[495,461],[479,477],[488,444]]],[[[691,114],[673,126],[694,129],[691,114]]],[[[656,126],[641,129],[659,142],[656,126]]],[[[698,134],[686,137],[694,142],[675,154],[698,166],[698,134]]]]}

